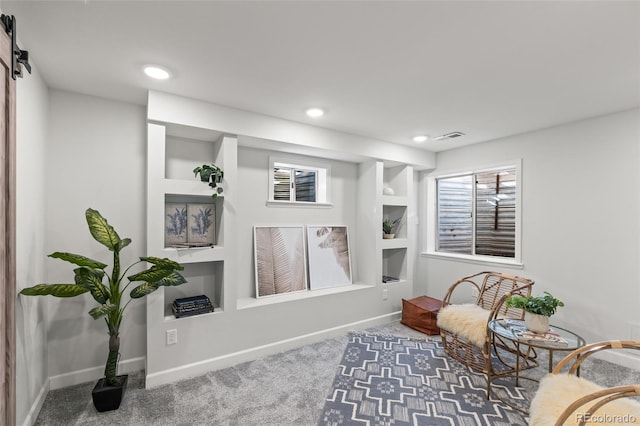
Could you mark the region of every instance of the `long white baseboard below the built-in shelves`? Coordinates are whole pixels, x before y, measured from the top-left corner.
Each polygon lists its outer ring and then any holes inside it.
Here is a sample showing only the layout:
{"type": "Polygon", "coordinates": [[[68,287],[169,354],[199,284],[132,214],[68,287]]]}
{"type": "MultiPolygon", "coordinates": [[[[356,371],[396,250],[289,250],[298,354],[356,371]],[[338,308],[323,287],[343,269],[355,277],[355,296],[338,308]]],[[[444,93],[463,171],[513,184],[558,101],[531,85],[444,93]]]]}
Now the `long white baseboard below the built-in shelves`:
{"type": "Polygon", "coordinates": [[[273,355],[289,349],[329,339],[331,337],[340,336],[350,330],[361,330],[363,328],[386,324],[394,319],[399,319],[400,315],[400,311],[392,312],[390,314],[328,328],[314,333],[293,337],[291,339],[280,340],[267,345],[257,346],[255,348],[245,349],[243,351],[222,355],[216,358],[148,374],[145,381],[145,387],[152,388],[166,383],[175,382],[176,380],[199,376],[208,371],[220,370],[242,362],[253,361],[264,356],[273,355]]]}

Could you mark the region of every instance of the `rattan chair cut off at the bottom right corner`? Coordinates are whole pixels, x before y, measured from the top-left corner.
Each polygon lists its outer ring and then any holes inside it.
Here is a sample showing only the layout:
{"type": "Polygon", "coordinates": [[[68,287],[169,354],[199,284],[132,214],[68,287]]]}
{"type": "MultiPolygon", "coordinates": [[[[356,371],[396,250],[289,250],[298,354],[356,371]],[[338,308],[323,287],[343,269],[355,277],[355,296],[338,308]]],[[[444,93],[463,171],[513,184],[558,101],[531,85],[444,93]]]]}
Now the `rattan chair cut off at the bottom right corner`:
{"type": "Polygon", "coordinates": [[[640,341],[592,343],[565,356],[540,381],[531,401],[529,425],[584,425],[588,420],[598,424],[640,424],[640,402],[627,398],[640,396],[640,384],[603,388],[576,375],[589,356],[609,349],[640,350],[640,341]],[[565,367],[568,370],[563,373],[565,367]]]}

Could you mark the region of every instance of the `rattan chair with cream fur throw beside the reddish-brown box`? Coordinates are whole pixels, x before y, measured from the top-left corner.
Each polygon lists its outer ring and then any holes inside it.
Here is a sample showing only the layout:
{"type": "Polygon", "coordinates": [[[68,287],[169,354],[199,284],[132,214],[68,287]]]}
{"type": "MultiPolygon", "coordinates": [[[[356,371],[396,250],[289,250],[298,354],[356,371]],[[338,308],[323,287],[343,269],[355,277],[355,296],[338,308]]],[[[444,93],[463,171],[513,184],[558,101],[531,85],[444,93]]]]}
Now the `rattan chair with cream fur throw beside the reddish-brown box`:
{"type": "MultiPolygon", "coordinates": [[[[443,299],[445,306],[438,313],[438,326],[445,352],[462,364],[486,374],[488,391],[494,377],[511,374],[516,368],[501,356],[501,351],[517,353],[512,344],[494,337],[488,323],[496,318],[522,319],[524,312],[521,309],[507,308],[504,302],[509,295],[529,296],[533,283],[527,278],[499,272],[480,272],[456,281],[443,299]],[[451,304],[454,294],[468,285],[477,289],[475,303],[451,304]]],[[[520,370],[537,365],[531,353],[518,356],[525,361],[518,366],[520,370]]]]}

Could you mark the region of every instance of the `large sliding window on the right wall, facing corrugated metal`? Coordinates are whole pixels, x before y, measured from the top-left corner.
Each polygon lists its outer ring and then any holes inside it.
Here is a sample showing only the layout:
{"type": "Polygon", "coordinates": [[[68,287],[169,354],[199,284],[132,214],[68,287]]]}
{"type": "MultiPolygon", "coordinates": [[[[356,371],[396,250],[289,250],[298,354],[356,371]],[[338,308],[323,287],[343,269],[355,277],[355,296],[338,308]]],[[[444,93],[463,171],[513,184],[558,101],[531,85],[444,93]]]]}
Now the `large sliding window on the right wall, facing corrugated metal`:
{"type": "Polygon", "coordinates": [[[519,262],[519,166],[430,177],[432,254],[519,262]]]}

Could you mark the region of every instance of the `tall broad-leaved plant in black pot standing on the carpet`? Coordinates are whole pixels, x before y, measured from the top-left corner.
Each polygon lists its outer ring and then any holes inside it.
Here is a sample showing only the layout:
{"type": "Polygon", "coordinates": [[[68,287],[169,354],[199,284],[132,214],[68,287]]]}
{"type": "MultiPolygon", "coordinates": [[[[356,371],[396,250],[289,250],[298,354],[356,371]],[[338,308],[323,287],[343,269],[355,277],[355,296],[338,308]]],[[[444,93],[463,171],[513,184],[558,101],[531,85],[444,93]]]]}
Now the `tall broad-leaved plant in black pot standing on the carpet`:
{"type": "Polygon", "coordinates": [[[74,283],[38,284],[23,289],[20,294],[25,296],[74,297],[90,293],[95,299],[98,305],[89,311],[89,315],[93,319],[105,319],[109,334],[109,354],[104,369],[104,378],[98,380],[92,396],[98,411],[109,411],[120,407],[127,386],[128,376],[118,375],[120,326],[126,307],[133,299],[142,298],[161,286],[176,286],[185,283],[186,280],[177,272],[184,268],[179,263],[167,258],[141,257],[139,261],[129,265],[121,272],[120,252],[131,243],[131,239],[121,239],[115,229],[97,210],[87,209],[85,216],[91,236],[113,252],[111,273],[106,270],[108,265],[100,261],[79,254],[55,252],[49,257],[61,259],[77,266],[73,270],[74,283]],[[151,267],[126,276],[133,266],[142,262],[150,263],[151,267]],[[123,303],[124,293],[132,283],[141,284],[131,290],[130,299],[123,303]]]}

